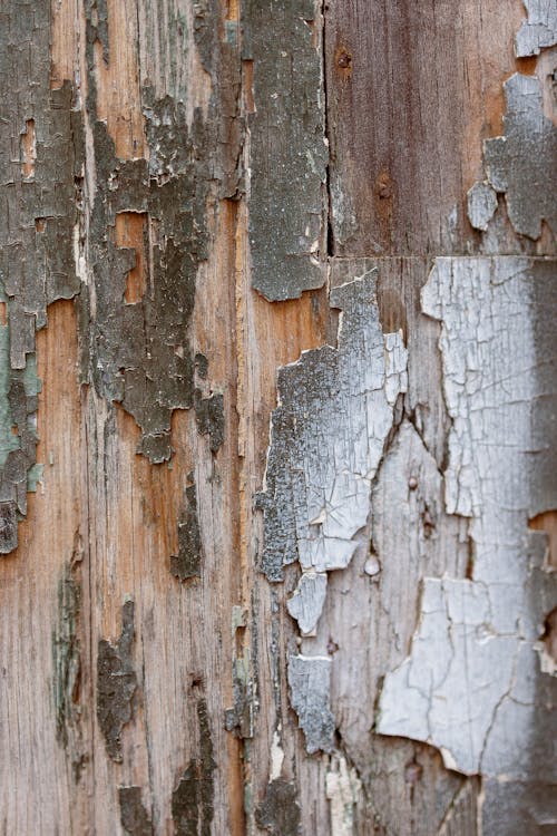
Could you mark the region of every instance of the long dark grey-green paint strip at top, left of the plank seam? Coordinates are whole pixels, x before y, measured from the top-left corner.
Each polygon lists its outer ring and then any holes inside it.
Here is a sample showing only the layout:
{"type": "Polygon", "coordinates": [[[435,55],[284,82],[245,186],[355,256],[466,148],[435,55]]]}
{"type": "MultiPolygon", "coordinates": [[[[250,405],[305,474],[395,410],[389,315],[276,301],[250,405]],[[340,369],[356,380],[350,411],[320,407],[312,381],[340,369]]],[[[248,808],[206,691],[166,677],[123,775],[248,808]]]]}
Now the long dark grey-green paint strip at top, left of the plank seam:
{"type": "Polygon", "coordinates": [[[250,244],[253,286],[270,301],[321,288],[326,164],[321,3],[247,0],[243,58],[253,61],[250,244]]]}

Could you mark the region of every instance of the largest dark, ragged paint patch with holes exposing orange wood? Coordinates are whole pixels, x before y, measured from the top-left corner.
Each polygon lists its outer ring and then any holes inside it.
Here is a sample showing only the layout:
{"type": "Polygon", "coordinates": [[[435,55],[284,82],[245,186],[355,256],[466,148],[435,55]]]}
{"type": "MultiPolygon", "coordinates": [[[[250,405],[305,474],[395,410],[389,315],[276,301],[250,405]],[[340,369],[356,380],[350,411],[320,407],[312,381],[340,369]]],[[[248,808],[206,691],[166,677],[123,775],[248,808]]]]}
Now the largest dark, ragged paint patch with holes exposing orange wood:
{"type": "Polygon", "coordinates": [[[237,196],[240,188],[240,55],[233,45],[218,41],[218,4],[197,4],[194,38],[214,81],[208,109],[194,108],[189,119],[183,98],[157,97],[154,87],[144,86],[148,161],[124,161],[105,123],[96,118],[99,33],[90,0],[87,16],[96,192],[86,243],[92,290],[82,294],[82,377],[134,416],[141,429],[138,451],[152,461],[170,458],[173,411],[190,407],[199,432],[208,435],[216,453],[224,434],[223,396],[205,398],[195,387],[189,324],[197,270],[208,256],[218,200],[237,196]],[[223,67],[227,80],[221,85],[223,67]],[[144,218],[145,255],[138,255],[135,245],[117,245],[118,217],[130,213],[144,218]],[[129,303],[128,276],[139,262],[147,271],[146,292],[129,303]]]}

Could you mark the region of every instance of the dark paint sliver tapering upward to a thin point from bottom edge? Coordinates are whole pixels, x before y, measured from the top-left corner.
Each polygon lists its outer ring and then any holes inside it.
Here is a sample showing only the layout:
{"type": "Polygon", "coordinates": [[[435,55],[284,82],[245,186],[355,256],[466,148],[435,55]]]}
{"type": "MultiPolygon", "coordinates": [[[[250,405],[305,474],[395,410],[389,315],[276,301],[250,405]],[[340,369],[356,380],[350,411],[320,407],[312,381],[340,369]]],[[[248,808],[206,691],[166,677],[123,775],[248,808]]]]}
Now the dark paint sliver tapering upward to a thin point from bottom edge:
{"type": "Polygon", "coordinates": [[[199,754],[192,758],[172,796],[175,836],[211,836],[214,816],[213,741],[207,703],[197,701],[199,754]]]}

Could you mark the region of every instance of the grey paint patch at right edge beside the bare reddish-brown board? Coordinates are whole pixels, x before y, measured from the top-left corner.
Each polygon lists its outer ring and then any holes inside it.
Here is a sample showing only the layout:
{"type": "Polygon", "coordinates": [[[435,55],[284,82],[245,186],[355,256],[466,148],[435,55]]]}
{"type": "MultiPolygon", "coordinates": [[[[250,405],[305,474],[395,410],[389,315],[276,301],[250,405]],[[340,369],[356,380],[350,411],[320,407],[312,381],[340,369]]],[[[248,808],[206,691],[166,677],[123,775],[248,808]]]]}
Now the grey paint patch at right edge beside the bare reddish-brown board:
{"type": "Polygon", "coordinates": [[[516,72],[504,90],[505,135],[483,143],[486,173],[495,191],[505,193],[515,231],[536,240],[543,221],[557,230],[557,129],[544,114],[536,76],[516,72]]]}

